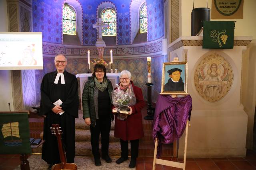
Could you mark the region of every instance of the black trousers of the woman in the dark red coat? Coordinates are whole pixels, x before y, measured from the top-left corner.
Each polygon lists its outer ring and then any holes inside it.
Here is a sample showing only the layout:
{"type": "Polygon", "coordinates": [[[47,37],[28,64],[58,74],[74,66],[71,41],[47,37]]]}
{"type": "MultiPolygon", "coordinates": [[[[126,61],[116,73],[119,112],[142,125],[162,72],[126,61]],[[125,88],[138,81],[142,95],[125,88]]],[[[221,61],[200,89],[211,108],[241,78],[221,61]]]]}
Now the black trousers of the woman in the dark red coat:
{"type": "MultiPolygon", "coordinates": [[[[138,157],[138,151],[139,151],[139,139],[132,140],[131,142],[131,158],[137,158],[138,157]]],[[[120,139],[121,144],[121,156],[124,158],[128,157],[128,141],[123,141],[120,139]]]]}

